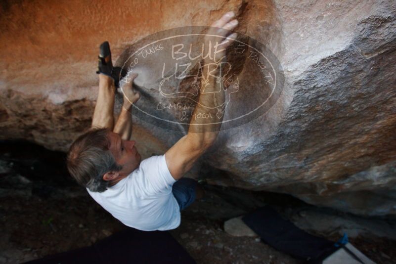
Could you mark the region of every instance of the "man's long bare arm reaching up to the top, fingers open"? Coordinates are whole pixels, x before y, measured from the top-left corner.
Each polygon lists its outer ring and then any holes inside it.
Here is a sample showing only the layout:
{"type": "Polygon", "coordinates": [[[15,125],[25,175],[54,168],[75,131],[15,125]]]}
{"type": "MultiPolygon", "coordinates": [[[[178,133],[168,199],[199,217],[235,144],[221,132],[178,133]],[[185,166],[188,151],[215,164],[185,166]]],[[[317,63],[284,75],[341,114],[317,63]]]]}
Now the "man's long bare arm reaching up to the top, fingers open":
{"type": "MultiPolygon", "coordinates": [[[[218,52],[213,57],[213,60],[205,60],[203,77],[206,81],[203,82],[201,94],[199,96],[198,104],[194,109],[193,116],[190,121],[188,133],[180,138],[176,144],[165,153],[165,160],[168,169],[172,176],[177,180],[181,178],[187,171],[189,171],[195,161],[214,143],[223,119],[222,107],[224,104],[224,90],[220,82],[217,82],[217,77],[221,77],[221,68],[225,58],[225,49],[232,43],[232,39],[236,38],[236,34],[230,34],[237,25],[237,20],[230,21],[233,13],[223,15],[220,20],[216,21],[211,26],[210,35],[221,35],[223,40],[218,45],[218,52]],[[226,40],[229,37],[231,40],[226,40]],[[197,118],[198,114],[205,113],[211,116],[208,122],[207,119],[197,118]]],[[[214,38],[208,37],[205,44],[214,42],[214,38]]]]}

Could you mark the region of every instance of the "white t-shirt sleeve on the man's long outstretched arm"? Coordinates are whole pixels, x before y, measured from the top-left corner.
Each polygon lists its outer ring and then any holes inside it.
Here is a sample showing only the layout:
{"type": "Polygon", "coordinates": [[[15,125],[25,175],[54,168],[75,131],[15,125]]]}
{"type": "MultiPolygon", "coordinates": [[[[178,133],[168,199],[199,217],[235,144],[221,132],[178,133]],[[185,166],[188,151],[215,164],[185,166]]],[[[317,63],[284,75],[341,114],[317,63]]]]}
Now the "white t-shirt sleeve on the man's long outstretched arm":
{"type": "Polygon", "coordinates": [[[153,156],[142,162],[140,169],[144,175],[146,191],[150,194],[169,194],[176,182],[171,175],[165,155],[153,156]]]}

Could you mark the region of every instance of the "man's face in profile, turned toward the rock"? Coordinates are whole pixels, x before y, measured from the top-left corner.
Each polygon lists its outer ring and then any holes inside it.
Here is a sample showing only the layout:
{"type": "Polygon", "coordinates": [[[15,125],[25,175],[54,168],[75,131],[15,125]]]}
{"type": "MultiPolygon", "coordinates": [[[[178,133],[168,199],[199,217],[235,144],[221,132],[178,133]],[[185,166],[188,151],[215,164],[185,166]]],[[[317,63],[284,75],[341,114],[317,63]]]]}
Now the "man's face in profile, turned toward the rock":
{"type": "Polygon", "coordinates": [[[121,136],[114,132],[109,132],[110,151],[117,164],[123,166],[120,176],[130,175],[139,167],[141,156],[137,152],[134,140],[122,140],[121,136]]]}

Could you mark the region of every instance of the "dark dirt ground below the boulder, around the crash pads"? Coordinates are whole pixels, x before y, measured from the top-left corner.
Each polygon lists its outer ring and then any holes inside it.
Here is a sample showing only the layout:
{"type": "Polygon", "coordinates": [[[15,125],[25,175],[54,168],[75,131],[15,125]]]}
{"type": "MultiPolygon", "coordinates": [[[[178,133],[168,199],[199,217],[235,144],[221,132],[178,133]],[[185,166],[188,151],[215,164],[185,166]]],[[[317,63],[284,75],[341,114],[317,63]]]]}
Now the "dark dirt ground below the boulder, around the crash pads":
{"type": "MultiPolygon", "coordinates": [[[[62,198],[57,194],[46,199],[36,195],[1,198],[0,263],[21,263],[88,246],[125,228],[88,194],[77,190],[71,193],[75,197],[62,198]]],[[[229,206],[222,207],[223,200],[210,190],[207,197],[182,212],[181,225],[171,231],[198,264],[299,263],[258,238],[228,235],[223,230],[223,220],[214,218],[221,212],[229,214],[229,206]],[[218,210],[213,203],[218,203],[218,210]]],[[[237,208],[235,211],[239,213],[237,208]]],[[[395,263],[396,241],[351,241],[377,263],[395,263]]]]}

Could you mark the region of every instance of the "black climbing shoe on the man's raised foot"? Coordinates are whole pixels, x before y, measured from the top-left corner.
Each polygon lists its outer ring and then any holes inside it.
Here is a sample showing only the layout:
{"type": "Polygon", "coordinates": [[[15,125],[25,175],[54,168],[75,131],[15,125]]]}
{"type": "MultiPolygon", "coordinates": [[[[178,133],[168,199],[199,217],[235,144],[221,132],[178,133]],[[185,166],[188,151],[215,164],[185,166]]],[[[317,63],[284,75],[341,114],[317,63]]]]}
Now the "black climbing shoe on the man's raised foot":
{"type": "Polygon", "coordinates": [[[127,73],[120,67],[113,67],[113,63],[111,62],[110,45],[107,41],[100,44],[98,70],[96,73],[101,73],[111,77],[114,80],[114,85],[116,88],[119,87],[120,80],[127,75],[127,73]]]}

